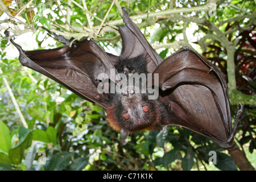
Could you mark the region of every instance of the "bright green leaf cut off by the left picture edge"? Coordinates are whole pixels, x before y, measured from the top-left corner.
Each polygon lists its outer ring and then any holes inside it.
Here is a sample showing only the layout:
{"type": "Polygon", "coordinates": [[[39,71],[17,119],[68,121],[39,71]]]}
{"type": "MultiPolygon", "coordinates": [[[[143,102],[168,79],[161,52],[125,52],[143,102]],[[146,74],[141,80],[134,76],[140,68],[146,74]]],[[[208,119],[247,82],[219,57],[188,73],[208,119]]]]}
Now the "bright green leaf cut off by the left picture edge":
{"type": "Polygon", "coordinates": [[[11,148],[10,131],[4,122],[0,122],[0,148],[6,153],[8,153],[11,148]]]}

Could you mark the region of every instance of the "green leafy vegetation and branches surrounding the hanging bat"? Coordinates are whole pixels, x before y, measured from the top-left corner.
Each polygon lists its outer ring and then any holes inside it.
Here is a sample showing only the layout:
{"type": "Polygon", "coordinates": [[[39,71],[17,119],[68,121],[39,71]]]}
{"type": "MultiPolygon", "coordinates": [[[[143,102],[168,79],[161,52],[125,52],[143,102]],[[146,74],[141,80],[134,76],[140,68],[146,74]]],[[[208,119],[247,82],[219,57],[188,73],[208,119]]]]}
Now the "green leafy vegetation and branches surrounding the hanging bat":
{"type": "MultiPolygon", "coordinates": [[[[8,30],[25,50],[63,46],[65,38],[94,38],[107,52],[122,49],[117,26],[126,7],[164,59],[182,46],[227,75],[232,118],[245,105],[234,140],[256,168],[255,1],[8,1],[0,0],[1,170],[239,170],[232,153],[183,127],[131,135],[126,146],[105,111],[47,77],[22,67],[8,30]],[[209,164],[216,151],[217,164],[209,164]]],[[[240,159],[238,159],[240,160],[240,159]]]]}

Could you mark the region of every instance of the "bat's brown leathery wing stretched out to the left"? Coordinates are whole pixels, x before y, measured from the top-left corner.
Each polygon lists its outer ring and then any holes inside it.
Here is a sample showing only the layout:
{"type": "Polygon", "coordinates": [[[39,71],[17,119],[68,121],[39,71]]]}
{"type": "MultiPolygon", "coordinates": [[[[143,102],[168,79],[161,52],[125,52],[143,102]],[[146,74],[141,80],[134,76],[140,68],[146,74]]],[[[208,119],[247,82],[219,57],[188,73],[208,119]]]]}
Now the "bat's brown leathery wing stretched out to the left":
{"type": "Polygon", "coordinates": [[[11,42],[19,50],[22,65],[52,78],[86,100],[108,107],[108,93],[99,93],[97,86],[111,78],[111,69],[114,75],[117,72],[109,56],[94,40],[83,39],[71,47],[36,51],[23,51],[13,40],[11,42]],[[98,78],[102,73],[105,75],[98,78]]]}

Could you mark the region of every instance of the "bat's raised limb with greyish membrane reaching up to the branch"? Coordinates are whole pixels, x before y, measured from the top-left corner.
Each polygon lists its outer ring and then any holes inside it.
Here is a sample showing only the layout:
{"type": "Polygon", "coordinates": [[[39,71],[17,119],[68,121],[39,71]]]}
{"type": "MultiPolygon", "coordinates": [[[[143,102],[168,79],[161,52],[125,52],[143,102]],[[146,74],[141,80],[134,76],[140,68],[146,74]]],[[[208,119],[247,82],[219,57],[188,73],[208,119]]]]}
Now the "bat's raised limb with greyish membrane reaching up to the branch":
{"type": "Polygon", "coordinates": [[[163,60],[147,42],[137,25],[130,19],[128,12],[123,10],[125,26],[118,27],[122,38],[121,60],[128,60],[137,56],[144,56],[147,61],[147,72],[152,73],[163,60]]]}

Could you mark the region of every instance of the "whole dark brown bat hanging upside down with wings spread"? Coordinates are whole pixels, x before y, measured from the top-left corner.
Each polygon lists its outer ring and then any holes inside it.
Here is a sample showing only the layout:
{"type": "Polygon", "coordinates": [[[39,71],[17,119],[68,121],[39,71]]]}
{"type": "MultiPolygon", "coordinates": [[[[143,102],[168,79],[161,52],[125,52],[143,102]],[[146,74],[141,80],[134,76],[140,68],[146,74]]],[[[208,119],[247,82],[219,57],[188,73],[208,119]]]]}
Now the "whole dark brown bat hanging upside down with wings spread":
{"type": "Polygon", "coordinates": [[[63,47],[23,51],[10,41],[23,66],[103,107],[110,127],[120,132],[122,144],[134,132],[175,125],[231,148],[242,107],[232,128],[224,73],[189,47],[163,60],[125,9],[122,19],[119,56],[106,53],[93,39],[71,44],[52,33],[63,47]]]}

